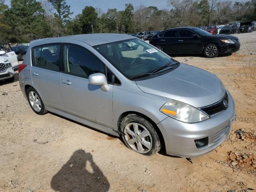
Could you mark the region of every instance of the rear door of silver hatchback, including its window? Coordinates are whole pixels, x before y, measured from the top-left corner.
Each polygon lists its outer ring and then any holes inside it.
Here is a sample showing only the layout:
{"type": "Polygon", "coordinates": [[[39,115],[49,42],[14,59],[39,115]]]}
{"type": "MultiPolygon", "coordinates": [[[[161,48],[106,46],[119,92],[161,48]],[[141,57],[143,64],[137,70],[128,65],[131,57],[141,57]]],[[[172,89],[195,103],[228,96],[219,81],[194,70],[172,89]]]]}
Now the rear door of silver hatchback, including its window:
{"type": "Polygon", "coordinates": [[[60,91],[62,44],[47,44],[32,49],[31,77],[34,88],[46,107],[64,111],[60,91]]]}

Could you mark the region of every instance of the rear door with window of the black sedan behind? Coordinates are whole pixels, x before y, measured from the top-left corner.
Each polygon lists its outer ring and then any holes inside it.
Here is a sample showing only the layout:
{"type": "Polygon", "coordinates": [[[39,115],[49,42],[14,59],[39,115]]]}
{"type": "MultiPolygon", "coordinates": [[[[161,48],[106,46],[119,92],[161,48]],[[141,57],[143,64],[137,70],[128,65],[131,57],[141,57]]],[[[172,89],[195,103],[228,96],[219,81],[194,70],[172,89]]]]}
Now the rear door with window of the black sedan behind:
{"type": "Polygon", "coordinates": [[[159,34],[159,45],[162,46],[164,52],[168,54],[179,53],[178,44],[178,34],[179,30],[168,30],[159,34]]]}

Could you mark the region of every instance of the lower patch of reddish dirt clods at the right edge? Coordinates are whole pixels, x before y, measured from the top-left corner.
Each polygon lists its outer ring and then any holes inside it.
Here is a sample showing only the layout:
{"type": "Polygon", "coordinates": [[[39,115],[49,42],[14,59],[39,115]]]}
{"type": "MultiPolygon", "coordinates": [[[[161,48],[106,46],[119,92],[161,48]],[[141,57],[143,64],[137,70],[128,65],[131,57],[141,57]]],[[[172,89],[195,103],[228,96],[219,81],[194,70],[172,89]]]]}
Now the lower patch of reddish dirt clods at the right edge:
{"type": "Polygon", "coordinates": [[[246,171],[256,176],[256,156],[251,152],[246,154],[230,151],[227,153],[226,161],[234,170],[246,171]]]}

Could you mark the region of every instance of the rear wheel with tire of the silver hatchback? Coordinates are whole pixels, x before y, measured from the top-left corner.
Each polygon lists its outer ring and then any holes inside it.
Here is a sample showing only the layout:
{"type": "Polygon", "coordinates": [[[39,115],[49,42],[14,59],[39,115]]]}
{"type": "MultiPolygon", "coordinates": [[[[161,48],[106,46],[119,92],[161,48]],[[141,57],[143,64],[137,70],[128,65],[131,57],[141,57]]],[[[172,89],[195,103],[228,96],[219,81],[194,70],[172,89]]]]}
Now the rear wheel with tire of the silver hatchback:
{"type": "Polygon", "coordinates": [[[27,95],[28,103],[30,107],[36,114],[44,115],[47,113],[47,110],[44,107],[44,103],[41,97],[39,96],[38,92],[34,88],[32,87],[28,88],[28,90],[26,91],[26,95],[27,95]],[[34,105],[32,105],[32,103],[34,103],[34,105]]]}

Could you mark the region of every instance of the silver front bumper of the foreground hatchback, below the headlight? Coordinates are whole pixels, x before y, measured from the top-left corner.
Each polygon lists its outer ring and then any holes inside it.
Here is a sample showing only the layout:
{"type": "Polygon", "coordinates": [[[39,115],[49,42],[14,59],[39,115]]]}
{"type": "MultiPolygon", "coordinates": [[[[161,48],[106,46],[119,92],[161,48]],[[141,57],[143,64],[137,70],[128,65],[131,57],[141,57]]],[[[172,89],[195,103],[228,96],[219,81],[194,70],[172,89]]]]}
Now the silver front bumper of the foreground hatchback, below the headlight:
{"type": "Polygon", "coordinates": [[[234,100],[228,92],[228,108],[220,114],[198,123],[184,123],[166,118],[157,126],[164,137],[166,153],[169,155],[192,158],[202,156],[228,138],[232,123],[236,118],[234,100]],[[208,137],[208,145],[197,148],[195,140],[208,137]]]}

